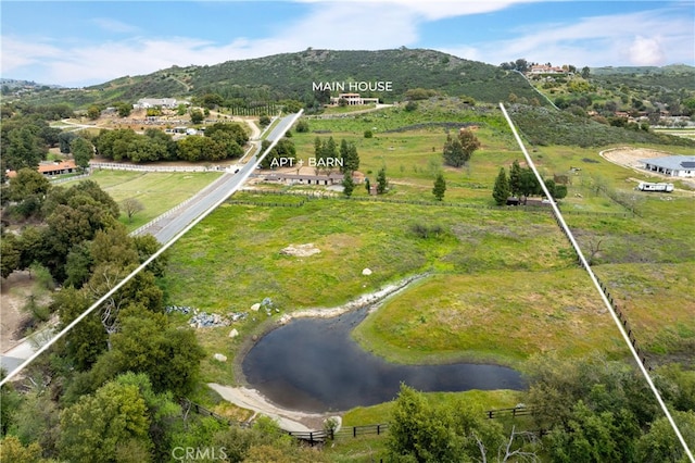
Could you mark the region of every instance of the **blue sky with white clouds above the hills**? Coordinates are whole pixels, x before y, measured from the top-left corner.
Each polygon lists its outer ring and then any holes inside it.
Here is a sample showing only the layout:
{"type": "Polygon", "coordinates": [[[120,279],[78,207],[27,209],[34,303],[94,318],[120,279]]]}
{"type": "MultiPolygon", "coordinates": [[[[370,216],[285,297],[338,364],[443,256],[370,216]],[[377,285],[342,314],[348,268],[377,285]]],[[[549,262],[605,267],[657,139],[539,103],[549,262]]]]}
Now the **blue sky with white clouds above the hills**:
{"type": "Polygon", "coordinates": [[[500,64],[695,65],[695,2],[7,1],[0,76],[70,87],[308,47],[430,48],[500,64]]]}

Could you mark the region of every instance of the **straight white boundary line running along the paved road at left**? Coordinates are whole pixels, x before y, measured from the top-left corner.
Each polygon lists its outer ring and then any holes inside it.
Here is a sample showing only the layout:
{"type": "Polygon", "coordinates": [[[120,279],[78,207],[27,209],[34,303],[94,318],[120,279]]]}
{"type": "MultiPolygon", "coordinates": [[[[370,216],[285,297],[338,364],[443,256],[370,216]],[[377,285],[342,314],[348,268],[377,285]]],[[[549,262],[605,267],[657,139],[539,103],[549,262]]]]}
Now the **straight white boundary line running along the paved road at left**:
{"type": "MultiPolygon", "coordinates": [[[[292,120],[292,122],[290,124],[288,124],[288,130],[292,128],[292,125],[294,125],[294,123],[296,122],[296,120],[302,115],[302,113],[304,112],[304,110],[300,110],[299,113],[296,113],[294,115],[294,118],[292,120]]],[[[285,135],[285,134],[282,134],[285,135]]],[[[275,146],[277,145],[277,142],[282,138],[282,135],[280,135],[278,138],[276,138],[275,140],[273,140],[273,142],[270,143],[270,146],[268,146],[268,148],[263,152],[263,154],[258,158],[257,162],[260,163],[263,158],[265,158],[273,148],[275,148],[275,146]]],[[[229,191],[229,195],[225,196],[224,198],[222,198],[219,201],[217,201],[216,203],[214,203],[212,207],[210,207],[206,211],[204,211],[202,214],[200,214],[198,217],[195,217],[190,224],[188,224],[186,226],[186,228],[184,228],[182,230],[180,230],[176,236],[174,236],[174,238],[169,239],[168,241],[166,241],[164,245],[162,245],[162,247],[152,255],[150,255],[150,258],[144,261],[142,264],[140,264],[139,267],[137,267],[136,270],[134,270],[132,272],[130,272],[130,274],[128,274],[125,278],[123,278],[116,286],[114,286],[113,288],[111,288],[109,290],[109,292],[106,292],[104,296],[102,296],[97,302],[94,302],[93,304],[91,304],[85,312],[83,312],[81,314],[79,314],[77,316],[77,318],[73,320],[66,327],[64,327],[58,335],[55,335],[50,341],[48,341],[47,343],[45,343],[43,346],[41,346],[36,352],[34,352],[34,354],[31,354],[31,356],[29,356],[28,359],[26,359],[20,366],[17,366],[16,368],[14,368],[12,372],[10,372],[4,378],[2,378],[2,380],[0,380],[0,386],[3,386],[5,383],[8,383],[10,379],[12,379],[14,376],[16,376],[21,371],[23,371],[24,368],[26,368],[31,362],[34,362],[40,354],[42,354],[43,352],[46,352],[51,346],[53,346],[55,343],[55,341],[58,341],[60,338],[62,338],[63,336],[65,336],[67,334],[67,331],[70,331],[71,329],[73,329],[75,327],[75,325],[77,325],[79,322],[81,322],[85,317],[87,317],[87,315],[89,315],[90,313],[92,313],[94,310],[97,310],[102,303],[104,303],[104,301],[106,299],[109,299],[111,296],[113,296],[114,292],[116,292],[118,289],[121,289],[126,283],[130,281],[130,279],[132,279],[132,277],[135,277],[137,274],[139,274],[140,272],[142,272],[150,263],[152,263],[152,261],[154,261],[156,258],[159,258],[160,255],[162,255],[162,253],[164,251],[166,251],[168,248],[172,247],[172,245],[174,245],[176,241],[179,240],[179,238],[181,238],[184,235],[186,235],[191,228],[193,228],[195,225],[198,225],[199,222],[201,222],[203,218],[205,218],[211,212],[213,212],[215,209],[217,209],[223,202],[225,202],[227,200],[227,198],[229,198],[229,196],[231,196],[231,193],[233,193],[237,189],[239,189],[241,187],[241,185],[243,185],[243,183],[247,180],[247,178],[249,178],[249,176],[251,175],[251,173],[253,172],[253,170],[248,170],[244,174],[243,177],[241,178],[241,180],[237,184],[237,188],[232,189],[229,191]]],[[[225,174],[225,175],[229,175],[229,174],[225,174]]]]}

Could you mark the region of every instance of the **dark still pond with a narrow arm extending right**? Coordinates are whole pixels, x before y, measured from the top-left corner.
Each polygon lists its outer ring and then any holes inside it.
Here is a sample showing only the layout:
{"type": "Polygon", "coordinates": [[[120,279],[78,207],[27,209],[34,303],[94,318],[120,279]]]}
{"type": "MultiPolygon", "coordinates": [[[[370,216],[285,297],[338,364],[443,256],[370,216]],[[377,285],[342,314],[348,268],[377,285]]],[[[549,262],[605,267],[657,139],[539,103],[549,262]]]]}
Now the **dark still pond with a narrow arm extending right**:
{"type": "Polygon", "coordinates": [[[396,397],[401,383],[422,391],[526,387],[521,375],[505,366],[389,363],[350,337],[366,311],[336,318],[299,318],[274,329],[243,359],[247,381],[276,404],[306,412],[387,402],[396,397]]]}

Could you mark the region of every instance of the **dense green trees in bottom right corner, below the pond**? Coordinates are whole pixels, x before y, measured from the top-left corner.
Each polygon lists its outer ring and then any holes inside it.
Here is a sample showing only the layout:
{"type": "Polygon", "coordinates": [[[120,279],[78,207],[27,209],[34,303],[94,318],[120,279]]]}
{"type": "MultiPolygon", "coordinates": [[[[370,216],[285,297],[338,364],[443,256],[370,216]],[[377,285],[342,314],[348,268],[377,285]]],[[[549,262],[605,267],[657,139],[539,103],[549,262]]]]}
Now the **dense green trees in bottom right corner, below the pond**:
{"type": "MultiPolygon", "coordinates": [[[[674,364],[654,375],[692,447],[695,372],[674,364]]],[[[685,461],[646,381],[629,365],[598,354],[573,360],[544,354],[529,362],[527,377],[523,403],[533,408],[533,423],[514,427],[486,420],[465,401],[428,400],[402,386],[389,428],[391,461],[685,461]]]]}

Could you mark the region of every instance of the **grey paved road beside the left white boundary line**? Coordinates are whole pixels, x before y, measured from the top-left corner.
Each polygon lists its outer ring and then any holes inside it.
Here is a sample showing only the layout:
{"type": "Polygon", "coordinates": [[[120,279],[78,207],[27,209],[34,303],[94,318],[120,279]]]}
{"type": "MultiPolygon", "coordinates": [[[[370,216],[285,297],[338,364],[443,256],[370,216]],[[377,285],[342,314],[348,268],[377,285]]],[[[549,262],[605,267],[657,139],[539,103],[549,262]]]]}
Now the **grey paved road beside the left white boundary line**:
{"type": "MultiPolygon", "coordinates": [[[[270,130],[267,139],[269,141],[276,141],[285,136],[285,133],[294,124],[294,122],[302,114],[300,111],[296,114],[290,114],[282,117],[279,123],[270,130]]],[[[213,208],[218,202],[237,191],[249,176],[255,171],[256,166],[263,160],[258,157],[261,150],[261,143],[257,143],[257,148],[254,155],[238,170],[238,172],[226,172],[220,178],[215,180],[212,185],[200,191],[192,200],[186,204],[179,207],[175,211],[169,211],[164,214],[161,220],[155,221],[150,227],[138,230],[139,234],[150,233],[161,243],[165,243],[178,235],[184,228],[186,228],[191,222],[193,222],[201,214],[213,208]]],[[[263,154],[263,153],[261,153],[263,154]]],[[[233,167],[232,167],[233,168],[233,167]]],[[[41,336],[39,343],[45,343],[51,337],[52,331],[48,331],[47,335],[41,336]]],[[[11,350],[0,355],[0,365],[8,372],[14,371],[26,359],[31,356],[36,351],[37,340],[26,339],[20,345],[15,346],[11,350]]]]}

